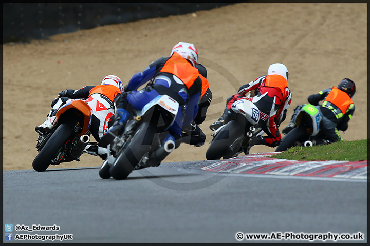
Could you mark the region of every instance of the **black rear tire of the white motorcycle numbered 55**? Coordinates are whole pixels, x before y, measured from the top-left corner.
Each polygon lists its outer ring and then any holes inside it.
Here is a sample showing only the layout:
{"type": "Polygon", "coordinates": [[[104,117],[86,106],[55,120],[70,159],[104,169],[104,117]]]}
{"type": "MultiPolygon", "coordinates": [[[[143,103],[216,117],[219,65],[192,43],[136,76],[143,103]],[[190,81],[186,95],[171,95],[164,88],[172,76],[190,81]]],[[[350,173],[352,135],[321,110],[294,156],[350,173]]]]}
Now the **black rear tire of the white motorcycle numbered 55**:
{"type": "Polygon", "coordinates": [[[235,149],[234,151],[229,149],[229,146],[241,136],[244,135],[244,129],[241,124],[236,120],[231,120],[226,124],[226,126],[217,133],[216,137],[211,142],[206,152],[207,160],[219,160],[221,157],[227,159],[233,156],[239,151],[235,149]]]}

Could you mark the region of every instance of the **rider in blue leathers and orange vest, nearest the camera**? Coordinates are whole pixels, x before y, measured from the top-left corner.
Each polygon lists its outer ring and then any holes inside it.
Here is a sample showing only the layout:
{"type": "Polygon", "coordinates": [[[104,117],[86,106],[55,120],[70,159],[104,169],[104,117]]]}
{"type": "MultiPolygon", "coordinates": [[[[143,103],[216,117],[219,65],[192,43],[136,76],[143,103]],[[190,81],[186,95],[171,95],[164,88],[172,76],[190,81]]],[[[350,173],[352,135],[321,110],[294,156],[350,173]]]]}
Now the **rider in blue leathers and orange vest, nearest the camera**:
{"type": "MultiPolygon", "coordinates": [[[[161,57],[143,71],[134,74],[118,100],[114,123],[109,131],[120,135],[134,109],[140,110],[156,96],[166,94],[179,103],[179,112],[163,142],[174,140],[175,148],[178,148],[182,127],[190,125],[198,113],[202,80],[196,69],[197,60],[198,51],[195,46],[179,42],[172,48],[170,57],[161,57]],[[146,87],[137,91],[145,83],[146,87]]],[[[103,145],[109,144],[113,138],[111,134],[105,134],[103,145]]]]}

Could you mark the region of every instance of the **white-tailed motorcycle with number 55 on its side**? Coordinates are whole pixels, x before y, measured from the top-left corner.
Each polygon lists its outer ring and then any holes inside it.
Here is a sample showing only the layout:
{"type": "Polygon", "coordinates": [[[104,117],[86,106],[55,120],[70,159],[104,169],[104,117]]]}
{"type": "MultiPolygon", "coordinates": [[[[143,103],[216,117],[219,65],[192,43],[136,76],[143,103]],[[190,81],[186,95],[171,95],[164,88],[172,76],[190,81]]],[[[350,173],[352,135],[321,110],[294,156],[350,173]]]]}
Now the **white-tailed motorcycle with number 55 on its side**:
{"type": "Polygon", "coordinates": [[[233,119],[212,134],[207,160],[229,159],[242,152],[249,154],[251,138],[265,133],[258,126],[260,110],[251,101],[237,100],[231,109],[233,119]]]}

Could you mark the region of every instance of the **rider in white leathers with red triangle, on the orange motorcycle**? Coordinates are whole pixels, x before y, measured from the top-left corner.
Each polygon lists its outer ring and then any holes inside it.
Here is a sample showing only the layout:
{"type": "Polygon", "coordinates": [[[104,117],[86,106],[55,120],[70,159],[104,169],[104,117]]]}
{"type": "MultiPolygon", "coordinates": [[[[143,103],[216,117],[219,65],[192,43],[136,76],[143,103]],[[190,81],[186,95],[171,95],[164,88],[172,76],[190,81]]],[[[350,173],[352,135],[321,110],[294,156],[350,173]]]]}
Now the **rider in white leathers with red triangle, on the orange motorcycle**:
{"type": "MultiPolygon", "coordinates": [[[[98,86],[85,86],[78,90],[66,89],[59,93],[51,103],[51,110],[45,122],[35,127],[35,131],[41,135],[50,132],[55,124],[56,114],[59,108],[73,99],[84,99],[93,111],[90,132],[97,140],[103,137],[108,129],[108,122],[115,113],[114,103],[123,89],[122,81],[115,75],[107,75],[98,86]]],[[[107,156],[106,148],[97,144],[88,144],[83,153],[98,155],[102,159],[107,156]]]]}

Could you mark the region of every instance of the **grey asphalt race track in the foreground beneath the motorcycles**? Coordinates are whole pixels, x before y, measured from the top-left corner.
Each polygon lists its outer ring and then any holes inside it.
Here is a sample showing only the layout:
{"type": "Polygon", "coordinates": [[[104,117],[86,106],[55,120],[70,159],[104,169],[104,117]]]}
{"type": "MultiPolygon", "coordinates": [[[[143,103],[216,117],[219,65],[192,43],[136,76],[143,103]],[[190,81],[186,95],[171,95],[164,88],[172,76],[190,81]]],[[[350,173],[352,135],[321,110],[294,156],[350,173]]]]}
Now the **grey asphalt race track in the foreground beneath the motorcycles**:
{"type": "Polygon", "coordinates": [[[239,242],[238,232],[361,232],[364,240],[354,242],[367,242],[366,180],[201,169],[212,162],[162,163],[120,181],[101,179],[98,167],[3,171],[3,225],[13,224],[13,238],[73,234],[63,242],[239,242]],[[16,225],[60,230],[16,231],[16,225]]]}

